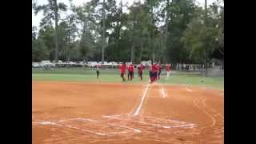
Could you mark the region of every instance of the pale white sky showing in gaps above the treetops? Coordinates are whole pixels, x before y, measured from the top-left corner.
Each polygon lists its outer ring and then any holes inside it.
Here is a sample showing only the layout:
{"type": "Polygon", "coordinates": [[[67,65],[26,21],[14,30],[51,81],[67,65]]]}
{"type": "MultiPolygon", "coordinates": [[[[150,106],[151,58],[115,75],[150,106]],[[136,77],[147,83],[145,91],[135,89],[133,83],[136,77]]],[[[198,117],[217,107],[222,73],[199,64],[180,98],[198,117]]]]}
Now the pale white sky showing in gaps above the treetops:
{"type": "MultiPolygon", "coordinates": [[[[46,4],[47,3],[47,0],[34,0],[38,3],[38,5],[42,5],[42,4],[46,4]]],[[[79,5],[82,5],[82,3],[85,3],[85,2],[89,2],[90,0],[73,0],[73,3],[74,5],[76,6],[79,6],[79,5]]],[[[137,0],[116,0],[117,3],[119,2],[123,2],[123,3],[126,3],[128,2],[128,6],[132,5],[132,3],[134,1],[137,1],[137,0]]],[[[198,2],[198,4],[200,6],[204,6],[204,2],[205,0],[195,0],[196,2],[198,2]]],[[[207,5],[210,5],[211,3],[215,2],[216,0],[207,0],[207,5]]],[[[67,6],[69,6],[69,0],[58,0],[58,2],[64,2],[67,6]]],[[[34,12],[32,10],[32,26],[39,26],[39,23],[42,19],[43,15],[42,15],[42,12],[38,13],[38,15],[34,15],[34,12]]]]}

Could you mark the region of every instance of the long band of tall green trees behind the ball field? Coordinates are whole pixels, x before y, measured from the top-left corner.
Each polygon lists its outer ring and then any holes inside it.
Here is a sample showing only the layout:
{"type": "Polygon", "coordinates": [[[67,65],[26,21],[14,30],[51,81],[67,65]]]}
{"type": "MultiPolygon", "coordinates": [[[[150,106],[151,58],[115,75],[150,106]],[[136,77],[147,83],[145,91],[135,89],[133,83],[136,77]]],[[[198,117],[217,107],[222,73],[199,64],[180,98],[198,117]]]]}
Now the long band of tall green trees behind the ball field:
{"type": "Polygon", "coordinates": [[[82,6],[48,0],[33,2],[32,8],[44,15],[40,26],[32,27],[33,62],[224,62],[224,6],[218,1],[201,7],[194,0],[138,0],[131,6],[116,0],[82,6]]]}

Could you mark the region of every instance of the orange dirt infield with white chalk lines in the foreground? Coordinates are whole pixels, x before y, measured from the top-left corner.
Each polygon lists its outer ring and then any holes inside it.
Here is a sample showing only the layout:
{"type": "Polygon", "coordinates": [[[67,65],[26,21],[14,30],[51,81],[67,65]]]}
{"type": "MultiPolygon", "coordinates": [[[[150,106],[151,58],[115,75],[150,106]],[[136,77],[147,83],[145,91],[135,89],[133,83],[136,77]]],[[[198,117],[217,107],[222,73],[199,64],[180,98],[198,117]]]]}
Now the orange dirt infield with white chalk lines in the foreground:
{"type": "Polygon", "coordinates": [[[32,142],[224,143],[224,92],[192,86],[33,82],[32,142]]]}

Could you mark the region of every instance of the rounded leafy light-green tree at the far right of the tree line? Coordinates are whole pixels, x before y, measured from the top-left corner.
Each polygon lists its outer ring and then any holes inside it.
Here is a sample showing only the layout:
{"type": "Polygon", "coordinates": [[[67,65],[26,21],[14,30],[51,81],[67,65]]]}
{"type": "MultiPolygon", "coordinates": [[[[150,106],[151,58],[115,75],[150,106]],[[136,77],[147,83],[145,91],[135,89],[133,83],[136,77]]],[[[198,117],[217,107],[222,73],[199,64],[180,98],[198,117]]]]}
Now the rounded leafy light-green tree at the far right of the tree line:
{"type": "Polygon", "coordinates": [[[222,26],[219,17],[218,6],[212,5],[207,11],[207,18],[203,12],[198,12],[198,17],[194,18],[183,32],[181,42],[190,52],[190,59],[194,62],[209,61],[210,55],[219,46],[222,46],[222,26]],[[218,26],[219,25],[219,26],[218,26]]]}

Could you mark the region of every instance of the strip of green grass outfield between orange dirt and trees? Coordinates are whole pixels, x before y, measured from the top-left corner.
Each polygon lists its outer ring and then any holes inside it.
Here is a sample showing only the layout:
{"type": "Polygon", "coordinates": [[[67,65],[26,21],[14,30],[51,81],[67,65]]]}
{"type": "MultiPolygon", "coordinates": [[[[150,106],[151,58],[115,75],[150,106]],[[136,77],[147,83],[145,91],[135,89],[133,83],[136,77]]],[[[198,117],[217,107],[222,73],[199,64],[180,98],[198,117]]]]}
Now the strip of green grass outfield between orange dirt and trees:
{"type": "MultiPolygon", "coordinates": [[[[58,68],[52,70],[32,69],[32,79],[36,81],[69,81],[69,82],[122,82],[118,69],[100,70],[99,80],[96,78],[94,69],[86,68],[58,68]]],[[[126,74],[127,78],[127,74],[126,74]]],[[[143,73],[143,81],[138,78],[138,70],[135,70],[132,83],[147,83],[149,72],[143,73]]],[[[205,78],[198,72],[173,71],[170,78],[166,79],[166,72],[163,71],[160,82],[165,84],[179,84],[190,86],[204,86],[208,88],[224,89],[224,77],[205,78]],[[203,81],[203,82],[202,82],[203,81]]]]}

